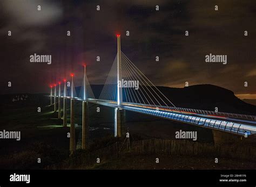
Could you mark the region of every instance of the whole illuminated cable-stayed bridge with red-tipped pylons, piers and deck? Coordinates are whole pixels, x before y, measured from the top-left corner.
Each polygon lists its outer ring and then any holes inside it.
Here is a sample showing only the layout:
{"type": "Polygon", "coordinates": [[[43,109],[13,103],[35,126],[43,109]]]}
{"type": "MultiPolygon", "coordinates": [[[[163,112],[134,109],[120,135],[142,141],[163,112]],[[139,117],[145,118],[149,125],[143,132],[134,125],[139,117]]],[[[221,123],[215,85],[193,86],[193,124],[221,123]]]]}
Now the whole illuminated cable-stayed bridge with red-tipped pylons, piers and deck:
{"type": "Polygon", "coordinates": [[[247,137],[256,134],[256,116],[214,112],[197,109],[186,109],[175,106],[154,84],[140,71],[132,61],[121,51],[120,35],[117,35],[117,55],[99,98],[95,98],[84,66],[84,78],[77,97],[73,74],[71,74],[71,88],[61,90],[59,82],[58,94],[56,84],[54,93],[51,86],[51,105],[54,99],[54,111],[61,118],[60,99],[63,98],[63,126],[66,126],[66,99],[71,99],[70,113],[70,150],[75,150],[75,123],[73,114],[74,100],[83,102],[83,130],[82,148],[85,149],[87,133],[87,103],[95,103],[114,108],[114,136],[122,136],[122,126],[125,121],[125,111],[138,112],[160,118],[179,121],[181,123],[211,128],[226,133],[238,134],[247,137]]]}

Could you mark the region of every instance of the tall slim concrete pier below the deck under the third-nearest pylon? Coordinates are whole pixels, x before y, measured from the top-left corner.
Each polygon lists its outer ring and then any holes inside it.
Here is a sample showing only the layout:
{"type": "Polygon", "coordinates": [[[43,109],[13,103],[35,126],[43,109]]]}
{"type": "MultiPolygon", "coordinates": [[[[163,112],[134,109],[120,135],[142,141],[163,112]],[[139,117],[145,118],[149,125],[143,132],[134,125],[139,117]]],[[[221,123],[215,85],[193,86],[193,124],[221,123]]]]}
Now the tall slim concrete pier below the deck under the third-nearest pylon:
{"type": "Polygon", "coordinates": [[[71,99],[70,105],[70,147],[71,154],[76,150],[76,130],[74,120],[74,99],[71,99]]]}

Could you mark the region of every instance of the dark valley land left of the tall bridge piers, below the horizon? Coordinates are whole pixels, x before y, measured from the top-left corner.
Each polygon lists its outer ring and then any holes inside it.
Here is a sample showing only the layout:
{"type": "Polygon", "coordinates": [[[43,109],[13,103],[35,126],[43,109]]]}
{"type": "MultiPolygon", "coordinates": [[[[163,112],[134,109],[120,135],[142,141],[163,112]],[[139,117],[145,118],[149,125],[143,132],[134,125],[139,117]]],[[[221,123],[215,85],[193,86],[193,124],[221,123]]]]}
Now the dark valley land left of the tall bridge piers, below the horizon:
{"type": "Polygon", "coordinates": [[[21,140],[0,141],[1,169],[40,169],[69,156],[69,127],[63,128],[62,120],[46,106],[49,98],[38,98],[2,107],[1,130],[21,131],[21,140]]]}

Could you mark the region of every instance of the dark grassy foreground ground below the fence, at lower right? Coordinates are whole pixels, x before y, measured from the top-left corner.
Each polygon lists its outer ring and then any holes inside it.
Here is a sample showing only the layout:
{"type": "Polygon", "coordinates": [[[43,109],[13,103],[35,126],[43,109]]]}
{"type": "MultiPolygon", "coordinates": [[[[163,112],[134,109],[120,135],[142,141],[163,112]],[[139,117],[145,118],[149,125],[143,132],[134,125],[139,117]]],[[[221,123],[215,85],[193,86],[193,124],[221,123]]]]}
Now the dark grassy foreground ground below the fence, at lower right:
{"type": "Polygon", "coordinates": [[[103,161],[94,166],[79,166],[72,169],[255,169],[250,161],[200,156],[134,155],[125,154],[117,159],[103,161]],[[159,163],[156,163],[156,158],[159,163]]]}

